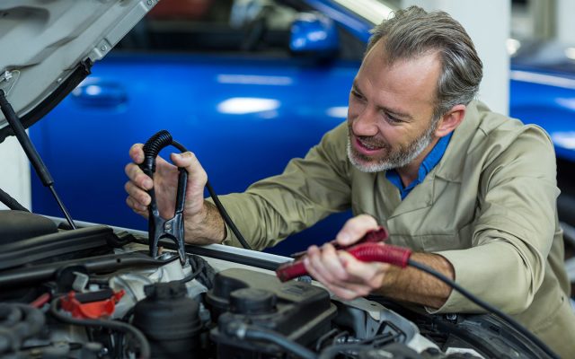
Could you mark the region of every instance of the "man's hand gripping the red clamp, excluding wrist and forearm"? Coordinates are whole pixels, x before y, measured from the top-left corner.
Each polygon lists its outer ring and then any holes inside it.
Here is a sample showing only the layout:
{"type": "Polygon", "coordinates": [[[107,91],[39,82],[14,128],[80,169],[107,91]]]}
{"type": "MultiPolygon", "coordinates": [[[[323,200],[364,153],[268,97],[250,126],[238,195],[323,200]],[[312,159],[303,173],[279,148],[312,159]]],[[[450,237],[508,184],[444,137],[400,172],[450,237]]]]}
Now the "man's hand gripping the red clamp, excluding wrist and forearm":
{"type": "MultiPolygon", "coordinates": [[[[379,226],[373,217],[358,215],[343,225],[335,240],[341,246],[349,246],[377,228],[379,226]]],[[[330,243],[324,244],[321,250],[311,246],[307,250],[304,264],[311,276],[327,286],[332,293],[346,300],[379,289],[384,285],[385,275],[391,267],[386,263],[361,262],[346,251],[336,251],[330,243]]]]}

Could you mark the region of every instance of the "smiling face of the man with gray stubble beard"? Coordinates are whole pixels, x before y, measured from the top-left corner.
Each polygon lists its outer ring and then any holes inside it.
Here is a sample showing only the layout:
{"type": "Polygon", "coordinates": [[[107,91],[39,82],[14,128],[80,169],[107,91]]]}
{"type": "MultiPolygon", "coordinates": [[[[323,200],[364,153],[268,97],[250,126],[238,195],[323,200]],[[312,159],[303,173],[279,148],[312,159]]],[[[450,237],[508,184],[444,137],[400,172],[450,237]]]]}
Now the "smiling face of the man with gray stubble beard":
{"type": "Polygon", "coordinates": [[[381,40],[369,51],[349,93],[348,156],[359,171],[404,167],[437,143],[439,73],[435,53],[387,64],[381,40]]]}

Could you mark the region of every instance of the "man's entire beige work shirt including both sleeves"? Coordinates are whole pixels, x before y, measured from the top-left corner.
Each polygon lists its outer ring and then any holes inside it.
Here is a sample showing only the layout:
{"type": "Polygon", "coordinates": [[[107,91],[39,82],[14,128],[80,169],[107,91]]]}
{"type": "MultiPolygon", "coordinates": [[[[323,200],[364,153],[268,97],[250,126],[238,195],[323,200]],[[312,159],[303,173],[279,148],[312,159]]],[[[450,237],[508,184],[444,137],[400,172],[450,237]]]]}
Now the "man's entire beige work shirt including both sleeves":
{"type": "MultiPolygon", "coordinates": [[[[385,225],[391,243],[444,256],[456,283],[513,314],[563,357],[575,355],[556,163],[543,129],[473,101],[441,161],[403,201],[385,172],[349,163],[347,139],[343,123],[281,175],[221,197],[255,249],[351,207],[385,225]]],[[[225,243],[239,245],[227,233],[225,243]]],[[[436,312],[482,310],[453,291],[436,312]]]]}

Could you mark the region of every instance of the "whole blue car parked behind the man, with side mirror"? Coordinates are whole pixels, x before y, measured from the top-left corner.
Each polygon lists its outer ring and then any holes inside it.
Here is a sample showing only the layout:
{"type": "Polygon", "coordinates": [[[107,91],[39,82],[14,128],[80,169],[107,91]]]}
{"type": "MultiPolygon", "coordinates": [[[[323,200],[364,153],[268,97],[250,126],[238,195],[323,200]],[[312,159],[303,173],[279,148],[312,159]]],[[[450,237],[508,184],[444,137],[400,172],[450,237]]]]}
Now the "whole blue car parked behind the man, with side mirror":
{"type": "MultiPolygon", "coordinates": [[[[32,141],[75,219],[146,230],[124,203],[131,144],[170,131],[197,154],[219,194],[278,174],[345,120],[368,31],[390,10],[376,0],[163,0],[31,127],[32,141]]],[[[568,218],[575,77],[522,54],[511,115],[553,137],[568,218]]],[[[60,215],[38,180],[32,206],[60,215]]],[[[269,251],[329,241],[349,215],[331,215],[269,251]]]]}

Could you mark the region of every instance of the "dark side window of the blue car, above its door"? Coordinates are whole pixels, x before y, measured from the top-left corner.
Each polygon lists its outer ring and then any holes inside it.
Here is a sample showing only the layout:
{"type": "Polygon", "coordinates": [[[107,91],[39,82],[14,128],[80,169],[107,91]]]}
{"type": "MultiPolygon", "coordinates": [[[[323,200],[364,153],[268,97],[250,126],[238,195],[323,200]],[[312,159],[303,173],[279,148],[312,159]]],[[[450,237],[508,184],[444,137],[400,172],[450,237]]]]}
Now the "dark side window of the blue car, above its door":
{"type": "MultiPolygon", "coordinates": [[[[114,51],[293,57],[291,24],[313,10],[301,0],[162,0],[114,51]]],[[[365,44],[341,28],[339,35],[339,57],[360,59],[365,44]]]]}

